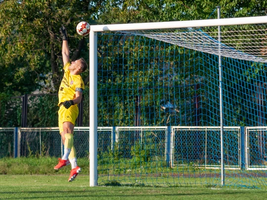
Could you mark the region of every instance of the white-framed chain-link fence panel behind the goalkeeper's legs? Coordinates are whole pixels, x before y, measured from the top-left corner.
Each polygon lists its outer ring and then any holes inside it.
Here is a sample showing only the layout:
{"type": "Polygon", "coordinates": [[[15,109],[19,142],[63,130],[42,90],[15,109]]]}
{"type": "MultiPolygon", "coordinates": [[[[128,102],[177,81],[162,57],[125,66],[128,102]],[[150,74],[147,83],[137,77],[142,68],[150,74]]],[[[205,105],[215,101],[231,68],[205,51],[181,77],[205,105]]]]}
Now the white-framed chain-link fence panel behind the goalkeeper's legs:
{"type": "MultiPolygon", "coordinates": [[[[98,128],[98,151],[111,146],[113,127],[98,128]]],[[[19,128],[19,157],[62,157],[63,144],[58,127],[19,128]]],[[[115,139],[115,138],[114,138],[115,139]]],[[[89,127],[74,128],[74,146],[77,158],[89,157],[89,127]]]]}

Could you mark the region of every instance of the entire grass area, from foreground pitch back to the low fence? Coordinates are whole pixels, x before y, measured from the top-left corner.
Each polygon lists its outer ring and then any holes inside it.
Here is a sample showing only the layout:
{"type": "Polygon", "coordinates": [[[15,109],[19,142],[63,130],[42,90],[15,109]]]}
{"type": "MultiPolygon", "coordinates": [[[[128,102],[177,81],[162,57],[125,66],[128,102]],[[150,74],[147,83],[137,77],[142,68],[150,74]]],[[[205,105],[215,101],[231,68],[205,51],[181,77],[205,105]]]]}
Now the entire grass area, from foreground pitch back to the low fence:
{"type": "MultiPolygon", "coordinates": [[[[206,176],[207,174],[202,176],[202,169],[198,168],[177,168],[177,171],[184,170],[181,174],[171,174],[172,171],[168,170],[174,169],[166,167],[156,168],[158,173],[145,173],[145,171],[140,173],[136,169],[132,173],[124,174],[127,170],[119,172],[111,170],[109,174],[99,173],[100,186],[92,188],[89,187],[88,159],[79,159],[79,165],[83,169],[82,174],[72,183],[67,182],[70,166],[56,171],[53,170],[55,163],[57,163],[56,158],[0,159],[0,200],[267,199],[267,178],[263,171],[257,172],[256,175],[260,177],[255,178],[249,178],[248,172],[244,172],[247,176],[238,177],[235,171],[228,171],[227,173],[232,174],[227,174],[225,184],[239,186],[231,188],[221,187],[219,176],[215,177],[212,174],[210,177],[206,176]],[[258,189],[252,189],[250,186],[258,189]]],[[[208,173],[208,170],[206,172],[208,173]]],[[[220,173],[220,171],[215,172],[220,173]]]]}

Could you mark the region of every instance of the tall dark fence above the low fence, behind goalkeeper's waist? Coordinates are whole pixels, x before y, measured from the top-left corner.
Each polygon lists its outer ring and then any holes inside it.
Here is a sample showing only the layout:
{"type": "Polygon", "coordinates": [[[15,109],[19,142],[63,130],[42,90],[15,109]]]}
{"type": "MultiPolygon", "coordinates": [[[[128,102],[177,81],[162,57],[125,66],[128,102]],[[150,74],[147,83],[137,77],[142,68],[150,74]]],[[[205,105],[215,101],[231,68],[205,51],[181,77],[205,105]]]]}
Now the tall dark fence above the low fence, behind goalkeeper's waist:
{"type": "MultiPolygon", "coordinates": [[[[57,126],[58,94],[24,94],[1,100],[0,126],[57,126]],[[40,106],[46,106],[40,110],[40,106]],[[53,106],[51,106],[53,105],[53,106]]],[[[78,126],[83,126],[84,97],[78,104],[78,126]]],[[[86,114],[86,113],[85,113],[86,114]]]]}

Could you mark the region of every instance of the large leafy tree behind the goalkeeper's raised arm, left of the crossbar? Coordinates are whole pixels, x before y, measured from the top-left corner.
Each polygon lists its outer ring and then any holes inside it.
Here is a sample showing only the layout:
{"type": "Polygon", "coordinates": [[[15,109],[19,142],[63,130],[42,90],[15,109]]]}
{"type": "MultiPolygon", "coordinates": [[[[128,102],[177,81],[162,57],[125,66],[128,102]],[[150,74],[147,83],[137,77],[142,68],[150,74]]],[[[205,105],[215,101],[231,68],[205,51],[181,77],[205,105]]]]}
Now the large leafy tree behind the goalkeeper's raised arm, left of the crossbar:
{"type": "Polygon", "coordinates": [[[94,22],[103,0],[6,0],[0,3],[0,92],[20,95],[42,88],[51,73],[51,92],[61,80],[64,24],[72,60],[88,58],[88,38],[76,34],[85,19],[94,22]]]}

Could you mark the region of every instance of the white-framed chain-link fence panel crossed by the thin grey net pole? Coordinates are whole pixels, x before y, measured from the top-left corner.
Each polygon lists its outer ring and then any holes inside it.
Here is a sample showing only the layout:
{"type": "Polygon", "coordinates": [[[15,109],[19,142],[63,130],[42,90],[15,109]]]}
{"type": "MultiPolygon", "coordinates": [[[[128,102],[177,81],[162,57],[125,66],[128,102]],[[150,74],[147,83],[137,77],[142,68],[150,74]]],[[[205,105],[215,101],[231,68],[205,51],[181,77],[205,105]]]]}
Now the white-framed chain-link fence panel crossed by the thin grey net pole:
{"type": "MultiPolygon", "coordinates": [[[[173,126],[173,165],[197,165],[220,168],[220,127],[173,126]]],[[[224,127],[223,150],[225,168],[240,168],[240,127],[224,127]]]]}

